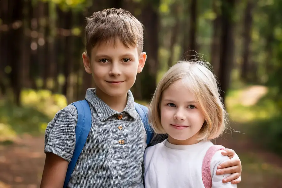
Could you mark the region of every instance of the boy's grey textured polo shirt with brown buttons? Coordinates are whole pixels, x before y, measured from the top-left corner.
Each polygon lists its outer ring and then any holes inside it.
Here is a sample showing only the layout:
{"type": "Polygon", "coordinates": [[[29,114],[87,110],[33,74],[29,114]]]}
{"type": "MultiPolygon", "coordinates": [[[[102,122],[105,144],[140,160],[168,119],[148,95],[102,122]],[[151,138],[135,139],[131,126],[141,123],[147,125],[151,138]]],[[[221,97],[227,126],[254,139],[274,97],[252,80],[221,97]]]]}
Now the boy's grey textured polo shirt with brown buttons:
{"type": "MultiPolygon", "coordinates": [[[[133,95],[128,91],[127,105],[119,113],[97,97],[95,91],[94,88],[86,91],[92,126],[68,187],[143,188],[146,132],[134,108],[133,95]]],[[[77,111],[73,105],[57,112],[46,129],[44,152],[70,162],[76,142],[76,122],[77,111]]],[[[154,134],[150,144],[166,138],[167,135],[154,134]]]]}

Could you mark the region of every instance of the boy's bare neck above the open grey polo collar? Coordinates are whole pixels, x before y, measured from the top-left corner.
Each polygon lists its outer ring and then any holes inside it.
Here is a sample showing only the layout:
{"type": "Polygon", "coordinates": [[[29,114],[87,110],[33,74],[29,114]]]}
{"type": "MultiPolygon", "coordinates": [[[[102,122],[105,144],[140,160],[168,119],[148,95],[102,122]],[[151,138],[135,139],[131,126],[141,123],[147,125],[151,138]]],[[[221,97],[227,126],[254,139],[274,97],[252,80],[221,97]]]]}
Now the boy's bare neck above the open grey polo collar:
{"type": "Polygon", "coordinates": [[[96,87],[96,95],[99,97],[103,102],[105,102],[110,108],[115,111],[122,112],[127,104],[127,92],[121,96],[113,97],[107,95],[98,87],[96,87]]]}

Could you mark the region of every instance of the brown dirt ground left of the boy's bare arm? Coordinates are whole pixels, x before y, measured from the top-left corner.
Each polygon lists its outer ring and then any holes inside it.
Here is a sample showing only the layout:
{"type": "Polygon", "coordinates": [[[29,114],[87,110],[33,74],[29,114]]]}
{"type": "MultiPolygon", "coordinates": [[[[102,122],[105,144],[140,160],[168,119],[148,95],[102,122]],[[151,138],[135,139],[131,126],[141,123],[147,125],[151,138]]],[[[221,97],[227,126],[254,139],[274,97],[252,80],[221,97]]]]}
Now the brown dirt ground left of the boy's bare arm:
{"type": "Polygon", "coordinates": [[[24,136],[0,145],[0,188],[37,188],[44,166],[44,138],[24,136]]]}

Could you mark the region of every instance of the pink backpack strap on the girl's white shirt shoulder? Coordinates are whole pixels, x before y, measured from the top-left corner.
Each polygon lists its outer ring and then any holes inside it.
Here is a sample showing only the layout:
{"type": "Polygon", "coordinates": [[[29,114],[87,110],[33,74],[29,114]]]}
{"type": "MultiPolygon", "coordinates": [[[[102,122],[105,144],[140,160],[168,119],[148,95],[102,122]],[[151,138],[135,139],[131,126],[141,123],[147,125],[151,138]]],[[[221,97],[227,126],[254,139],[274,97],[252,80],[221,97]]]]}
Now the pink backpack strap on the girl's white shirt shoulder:
{"type": "Polygon", "coordinates": [[[206,155],[202,164],[202,180],[205,188],[212,188],[212,175],[211,175],[211,160],[213,155],[218,150],[224,150],[225,148],[221,145],[212,145],[206,152],[206,155]]]}

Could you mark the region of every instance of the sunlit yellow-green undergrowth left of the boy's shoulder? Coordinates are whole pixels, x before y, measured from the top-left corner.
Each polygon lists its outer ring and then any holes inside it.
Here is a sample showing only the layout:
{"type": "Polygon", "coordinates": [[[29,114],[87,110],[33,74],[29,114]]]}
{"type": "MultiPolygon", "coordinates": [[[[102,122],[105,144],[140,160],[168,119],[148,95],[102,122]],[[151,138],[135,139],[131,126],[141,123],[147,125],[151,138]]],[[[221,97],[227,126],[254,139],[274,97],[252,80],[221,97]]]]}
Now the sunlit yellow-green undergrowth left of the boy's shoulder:
{"type": "Polygon", "coordinates": [[[21,107],[0,101],[0,141],[22,133],[44,133],[55,113],[67,105],[65,96],[47,90],[23,90],[21,100],[21,107]]]}

